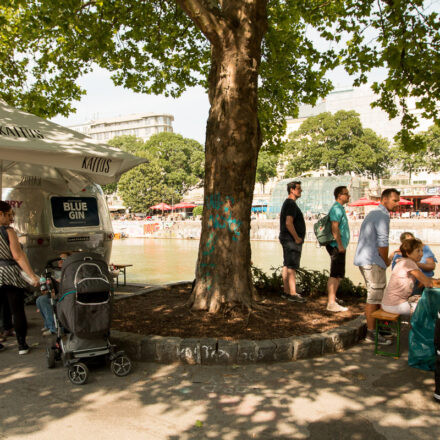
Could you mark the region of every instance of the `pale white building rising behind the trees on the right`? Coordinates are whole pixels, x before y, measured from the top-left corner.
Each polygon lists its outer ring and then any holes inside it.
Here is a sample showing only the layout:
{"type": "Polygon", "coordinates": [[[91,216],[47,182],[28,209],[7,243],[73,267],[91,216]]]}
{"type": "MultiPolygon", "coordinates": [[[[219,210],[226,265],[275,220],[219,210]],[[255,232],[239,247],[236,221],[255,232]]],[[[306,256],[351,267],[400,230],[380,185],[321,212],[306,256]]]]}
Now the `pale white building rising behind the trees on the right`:
{"type": "MultiPolygon", "coordinates": [[[[300,125],[310,116],[316,116],[324,112],[333,114],[339,110],[354,110],[356,113],[359,113],[359,118],[364,127],[371,128],[379,136],[393,141],[393,137],[401,129],[400,117],[390,120],[388,113],[384,110],[378,107],[371,107],[371,103],[376,101],[377,97],[369,85],[335,90],[318,101],[314,107],[311,105],[300,106],[298,118],[287,118],[286,134],[289,135],[293,131],[298,130],[300,125]]],[[[408,108],[410,113],[417,115],[420,123],[417,128],[418,131],[425,131],[433,124],[432,121],[421,117],[421,110],[416,109],[414,99],[408,100],[408,108]]]]}

